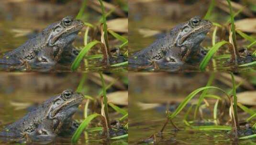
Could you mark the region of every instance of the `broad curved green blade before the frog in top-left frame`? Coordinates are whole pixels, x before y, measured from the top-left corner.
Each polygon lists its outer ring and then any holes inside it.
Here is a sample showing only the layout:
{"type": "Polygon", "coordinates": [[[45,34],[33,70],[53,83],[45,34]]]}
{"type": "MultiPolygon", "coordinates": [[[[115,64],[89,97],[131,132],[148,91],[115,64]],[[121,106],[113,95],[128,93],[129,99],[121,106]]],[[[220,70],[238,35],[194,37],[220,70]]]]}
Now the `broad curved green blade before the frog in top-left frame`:
{"type": "Polygon", "coordinates": [[[86,55],[86,53],[96,44],[100,43],[100,41],[91,41],[89,42],[83,49],[81,52],[79,52],[78,56],[76,57],[75,61],[72,63],[71,65],[71,71],[75,71],[80,62],[82,61],[83,57],[86,55]]]}

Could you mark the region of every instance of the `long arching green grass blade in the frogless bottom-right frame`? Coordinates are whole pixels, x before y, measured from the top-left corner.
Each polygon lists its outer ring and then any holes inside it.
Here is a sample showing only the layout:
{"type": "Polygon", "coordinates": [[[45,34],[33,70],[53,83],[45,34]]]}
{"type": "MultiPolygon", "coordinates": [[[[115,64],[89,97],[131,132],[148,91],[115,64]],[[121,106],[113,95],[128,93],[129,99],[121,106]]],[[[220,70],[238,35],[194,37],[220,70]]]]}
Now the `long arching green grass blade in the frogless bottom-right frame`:
{"type": "Polygon", "coordinates": [[[211,88],[214,88],[214,89],[218,89],[218,90],[221,90],[223,93],[226,94],[226,92],[221,89],[221,88],[218,88],[218,87],[213,87],[213,86],[208,86],[208,87],[201,87],[201,88],[198,88],[196,90],[194,90],[192,93],[190,93],[184,100],[183,102],[181,102],[179,105],[178,105],[178,108],[174,111],[174,113],[172,113],[171,115],[169,115],[169,118],[170,119],[173,119],[177,114],[179,114],[179,112],[189,103],[189,101],[195,97],[199,92],[205,90],[205,89],[211,89],[211,88]]]}

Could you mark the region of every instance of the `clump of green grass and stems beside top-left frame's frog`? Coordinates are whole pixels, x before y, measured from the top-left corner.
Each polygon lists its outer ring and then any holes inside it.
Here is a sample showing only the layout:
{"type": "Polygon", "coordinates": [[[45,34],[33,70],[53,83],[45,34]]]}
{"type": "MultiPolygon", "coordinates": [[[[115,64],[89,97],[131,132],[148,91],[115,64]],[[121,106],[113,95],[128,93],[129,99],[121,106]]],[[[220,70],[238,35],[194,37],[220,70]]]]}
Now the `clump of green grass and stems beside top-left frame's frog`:
{"type": "MultiPolygon", "coordinates": [[[[100,3],[100,9],[101,9],[101,19],[99,20],[99,23],[96,25],[90,24],[88,22],[84,22],[84,24],[87,26],[85,35],[84,35],[84,47],[81,49],[79,52],[78,56],[74,60],[74,62],[71,65],[71,71],[75,71],[78,69],[80,63],[82,60],[85,61],[85,67],[88,68],[88,60],[91,59],[102,59],[102,66],[97,67],[98,69],[102,68],[110,68],[110,67],[119,67],[119,66],[127,66],[128,61],[125,62],[119,62],[115,64],[111,64],[110,59],[113,57],[111,55],[110,51],[110,46],[109,46],[109,39],[108,39],[108,34],[111,34],[114,38],[116,38],[119,41],[122,41],[122,44],[118,48],[123,48],[124,46],[127,46],[128,40],[124,38],[123,36],[119,35],[118,33],[108,30],[107,26],[107,16],[111,14],[113,10],[110,10],[110,12],[105,13],[105,7],[103,5],[102,0],[98,0],[100,3]],[[94,40],[95,39],[95,34],[97,33],[97,28],[99,27],[100,30],[100,41],[94,40]],[[88,35],[89,31],[92,31],[94,35],[92,35],[93,41],[88,42],[88,35]],[[91,48],[95,46],[99,46],[101,49],[102,54],[96,54],[96,55],[88,55],[88,52],[90,51],[91,48]]],[[[84,10],[86,9],[86,2],[87,0],[84,0],[81,6],[81,9],[78,12],[77,19],[81,19],[84,13],[84,10]]],[[[124,53],[126,58],[128,57],[128,51],[124,53]]]]}

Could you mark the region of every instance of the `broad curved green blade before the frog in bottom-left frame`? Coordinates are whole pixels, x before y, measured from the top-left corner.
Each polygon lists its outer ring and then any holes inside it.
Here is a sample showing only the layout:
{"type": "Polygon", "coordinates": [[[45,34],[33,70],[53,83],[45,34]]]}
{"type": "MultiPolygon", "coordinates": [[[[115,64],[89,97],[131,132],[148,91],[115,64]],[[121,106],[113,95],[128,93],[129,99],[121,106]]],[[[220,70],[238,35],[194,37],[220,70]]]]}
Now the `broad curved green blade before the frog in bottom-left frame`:
{"type": "Polygon", "coordinates": [[[78,129],[74,133],[74,135],[71,138],[72,143],[78,142],[78,138],[82,134],[83,130],[89,125],[89,123],[95,118],[100,116],[100,114],[91,114],[85,120],[79,125],[78,129]]]}

